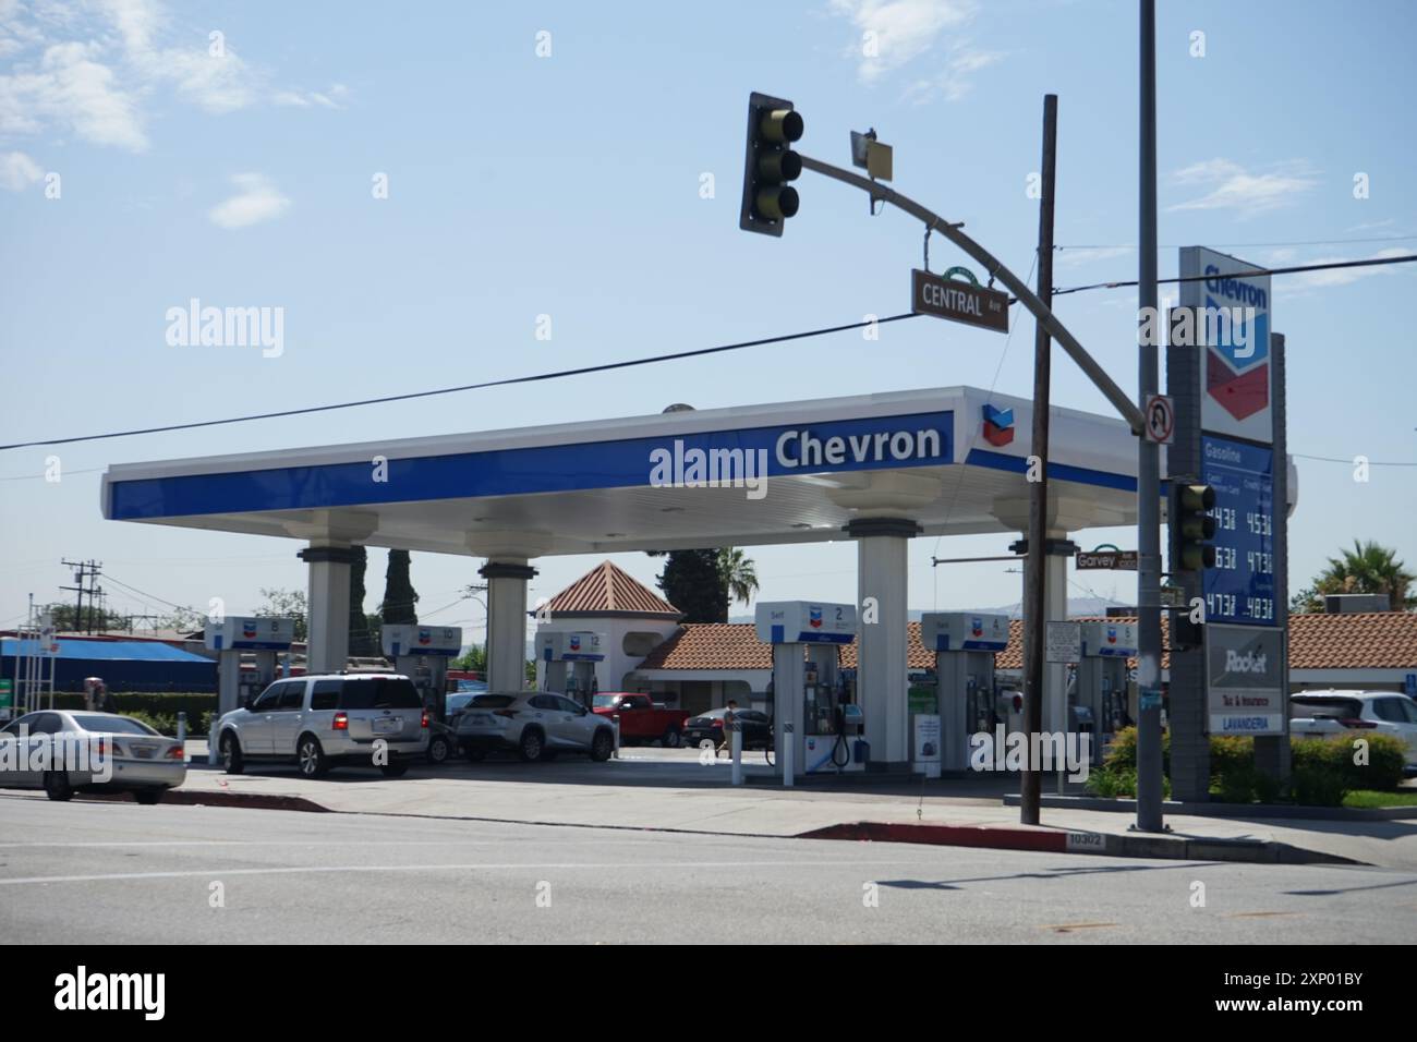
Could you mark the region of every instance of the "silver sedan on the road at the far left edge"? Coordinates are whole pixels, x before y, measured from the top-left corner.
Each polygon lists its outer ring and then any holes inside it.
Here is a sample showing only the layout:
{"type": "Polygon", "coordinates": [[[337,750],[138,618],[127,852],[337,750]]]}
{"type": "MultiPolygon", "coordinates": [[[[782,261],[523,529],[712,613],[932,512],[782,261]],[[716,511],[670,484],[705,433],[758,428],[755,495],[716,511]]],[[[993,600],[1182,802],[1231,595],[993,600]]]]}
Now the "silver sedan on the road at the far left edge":
{"type": "MultiPolygon", "coordinates": [[[[74,743],[71,749],[79,749],[74,743]]],[[[0,729],[0,785],[14,788],[43,788],[50,800],[71,800],[75,792],[132,792],[140,804],[156,804],[163,792],[187,778],[187,756],[183,743],[159,734],[142,720],[116,713],[81,710],[44,710],[26,713],[0,729]],[[31,756],[37,746],[48,746],[52,753],[60,743],[81,739],[95,749],[102,760],[47,760],[31,756]],[[41,770],[31,770],[35,764],[41,770]],[[67,770],[68,766],[101,767],[67,770]],[[44,766],[65,770],[43,770],[44,766]],[[101,780],[99,775],[108,777],[101,780]]]]}

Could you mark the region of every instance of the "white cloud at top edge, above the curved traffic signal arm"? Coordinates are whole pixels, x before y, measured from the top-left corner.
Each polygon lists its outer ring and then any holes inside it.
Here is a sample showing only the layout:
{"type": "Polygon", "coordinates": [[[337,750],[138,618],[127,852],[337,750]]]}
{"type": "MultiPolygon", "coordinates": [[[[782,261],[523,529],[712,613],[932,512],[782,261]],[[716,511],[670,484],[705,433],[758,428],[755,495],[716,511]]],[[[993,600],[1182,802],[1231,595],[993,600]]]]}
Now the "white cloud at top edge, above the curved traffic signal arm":
{"type": "MultiPolygon", "coordinates": [[[[935,48],[942,35],[958,33],[979,13],[976,0],[830,0],[833,14],[846,17],[857,30],[849,55],[857,62],[856,75],[874,84],[935,48]]],[[[952,38],[945,67],[922,75],[907,88],[907,96],[925,101],[944,96],[956,101],[971,89],[973,72],[1002,55],[981,51],[966,40],[952,38]]]]}

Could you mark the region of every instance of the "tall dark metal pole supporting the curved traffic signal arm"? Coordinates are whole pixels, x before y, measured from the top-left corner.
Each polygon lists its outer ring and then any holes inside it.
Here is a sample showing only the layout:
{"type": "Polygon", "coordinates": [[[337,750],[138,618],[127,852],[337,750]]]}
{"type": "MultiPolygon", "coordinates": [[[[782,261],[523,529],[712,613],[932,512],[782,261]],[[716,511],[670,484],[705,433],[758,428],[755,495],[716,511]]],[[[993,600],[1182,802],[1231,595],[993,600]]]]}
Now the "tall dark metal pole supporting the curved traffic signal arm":
{"type": "MultiPolygon", "coordinates": [[[[1139,140],[1139,230],[1138,250],[1138,407],[1158,390],[1159,346],[1145,343],[1144,316],[1156,313],[1156,0],[1141,0],[1141,140],[1139,140]]],[[[1161,832],[1162,754],[1159,699],[1148,703],[1146,692],[1161,689],[1161,447],[1145,437],[1136,439],[1136,828],[1161,832]]]]}

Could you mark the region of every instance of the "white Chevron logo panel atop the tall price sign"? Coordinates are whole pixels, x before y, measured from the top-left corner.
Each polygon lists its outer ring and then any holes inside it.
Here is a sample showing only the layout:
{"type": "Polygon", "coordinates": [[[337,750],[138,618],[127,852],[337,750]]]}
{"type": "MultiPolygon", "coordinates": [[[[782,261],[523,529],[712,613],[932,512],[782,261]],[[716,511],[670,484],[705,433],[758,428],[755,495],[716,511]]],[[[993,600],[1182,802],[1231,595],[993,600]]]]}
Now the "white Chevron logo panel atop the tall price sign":
{"type": "Polygon", "coordinates": [[[1257,265],[1204,247],[1180,251],[1180,303],[1196,309],[1200,346],[1200,427],[1270,444],[1272,377],[1270,276],[1236,276],[1257,265]]]}

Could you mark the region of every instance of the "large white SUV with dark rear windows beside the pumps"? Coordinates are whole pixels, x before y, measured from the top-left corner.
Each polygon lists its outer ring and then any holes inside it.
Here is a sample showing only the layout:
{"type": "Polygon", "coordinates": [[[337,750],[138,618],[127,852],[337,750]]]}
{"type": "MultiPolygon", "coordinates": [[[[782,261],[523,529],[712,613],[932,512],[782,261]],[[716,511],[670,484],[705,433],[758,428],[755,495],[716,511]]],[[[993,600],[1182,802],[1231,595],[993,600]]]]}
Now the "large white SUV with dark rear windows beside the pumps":
{"type": "Polygon", "coordinates": [[[319,778],[340,764],[374,766],[385,743],[385,777],[408,770],[428,750],[428,712],[407,676],[320,673],[276,680],[251,703],[217,722],[217,749],[227,774],[247,763],[293,763],[319,778]]]}

